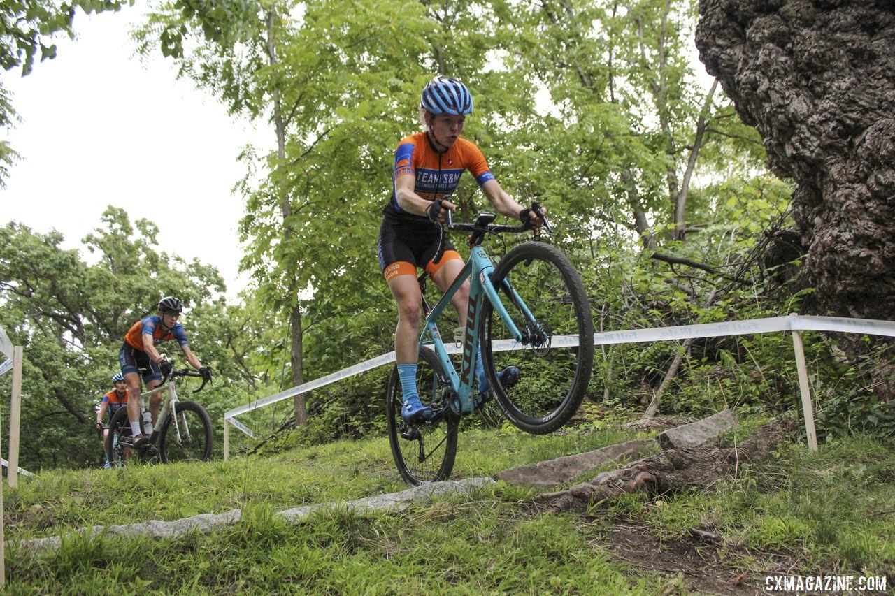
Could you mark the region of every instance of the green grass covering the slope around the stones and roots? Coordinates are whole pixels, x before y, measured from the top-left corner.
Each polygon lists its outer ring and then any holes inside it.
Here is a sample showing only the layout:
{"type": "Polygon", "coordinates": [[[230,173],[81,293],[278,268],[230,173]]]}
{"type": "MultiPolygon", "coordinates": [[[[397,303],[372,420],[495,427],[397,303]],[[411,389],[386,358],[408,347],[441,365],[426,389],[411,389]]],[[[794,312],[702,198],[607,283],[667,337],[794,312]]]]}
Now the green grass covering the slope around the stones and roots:
{"type": "MultiPolygon", "coordinates": [[[[466,430],[454,477],[490,475],[630,438],[618,429],[533,437],[466,430]]],[[[795,445],[771,464],[708,490],[628,495],[587,515],[533,506],[499,482],[402,513],[354,513],[338,503],[403,490],[388,441],[297,448],[210,464],[41,473],[4,490],[5,537],[64,535],[56,551],[6,550],[8,593],[669,593],[677,575],[644,572],[609,549],[613,524],[636,524],[659,545],[691,528],[721,537],[715,565],[754,574],[788,558],[804,575],[895,577],[895,447],[840,439],[812,454],[795,445]],[[333,502],[301,524],[277,511],[333,502]],[[92,524],[172,520],[243,509],[243,521],[176,540],[87,537],[92,524]]],[[[709,565],[711,567],[711,565],[709,565]]],[[[712,569],[708,570],[712,573],[712,569]]],[[[720,571],[718,571],[720,573],[720,571]]],[[[692,587],[692,586],[691,586],[692,587]]]]}

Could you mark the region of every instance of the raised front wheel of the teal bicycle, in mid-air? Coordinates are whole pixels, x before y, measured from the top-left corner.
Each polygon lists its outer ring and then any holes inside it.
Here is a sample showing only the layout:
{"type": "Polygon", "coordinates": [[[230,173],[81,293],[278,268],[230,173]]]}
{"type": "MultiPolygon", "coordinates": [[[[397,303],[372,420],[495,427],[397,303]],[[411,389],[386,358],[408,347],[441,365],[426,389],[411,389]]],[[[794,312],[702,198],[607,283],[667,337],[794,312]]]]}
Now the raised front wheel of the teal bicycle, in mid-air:
{"type": "Polygon", "coordinates": [[[523,243],[507,252],[491,275],[517,342],[493,305],[482,310],[482,364],[507,420],[533,434],[563,426],[587,391],[593,366],[593,320],[584,284],[572,263],[544,243],[523,243]],[[513,387],[497,373],[516,366],[513,387]]]}

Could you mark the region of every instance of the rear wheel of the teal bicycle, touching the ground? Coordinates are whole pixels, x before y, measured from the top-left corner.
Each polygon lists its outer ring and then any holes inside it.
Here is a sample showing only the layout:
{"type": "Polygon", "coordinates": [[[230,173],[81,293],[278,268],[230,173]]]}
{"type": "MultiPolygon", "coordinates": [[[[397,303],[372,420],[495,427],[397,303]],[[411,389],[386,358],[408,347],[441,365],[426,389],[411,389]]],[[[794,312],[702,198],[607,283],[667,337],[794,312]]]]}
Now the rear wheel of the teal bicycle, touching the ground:
{"type": "Polygon", "coordinates": [[[439,415],[431,421],[407,424],[401,418],[401,380],[397,367],[388,380],[386,415],[388,442],[397,470],[408,484],[447,480],[456,458],[457,419],[444,404],[444,369],[429,348],[420,346],[416,385],[423,404],[432,404],[439,415]]]}

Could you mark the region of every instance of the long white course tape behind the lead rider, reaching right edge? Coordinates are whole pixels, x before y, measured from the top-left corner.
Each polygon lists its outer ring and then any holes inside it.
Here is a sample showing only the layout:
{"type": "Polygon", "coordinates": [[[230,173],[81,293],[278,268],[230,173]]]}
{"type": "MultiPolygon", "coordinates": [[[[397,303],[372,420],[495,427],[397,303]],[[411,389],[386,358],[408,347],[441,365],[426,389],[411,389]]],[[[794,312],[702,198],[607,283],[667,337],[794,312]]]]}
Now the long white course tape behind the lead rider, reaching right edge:
{"type": "MultiPolygon", "coordinates": [[[[658,342],[679,340],[698,337],[718,336],[746,336],[756,333],[771,333],[774,331],[840,331],[844,333],[862,333],[873,336],[895,337],[895,321],[877,319],[840,319],[836,317],[812,317],[807,315],[787,315],[785,317],[769,317],[766,319],[731,320],[719,323],[703,323],[700,325],[679,325],[677,327],[660,327],[647,329],[628,329],[626,331],[603,331],[593,334],[594,345],[634,344],[640,342],[658,342]]],[[[574,347],[578,345],[577,336],[554,336],[551,345],[554,347],[574,347]]],[[[447,353],[459,353],[461,347],[454,343],[446,344],[447,353]]],[[[493,349],[496,352],[524,349],[513,340],[501,340],[495,342],[493,349]]],[[[245,404],[224,414],[224,420],[228,421],[240,430],[247,429],[242,424],[236,424],[234,416],[257,410],[268,404],[297,396],[333,383],[337,380],[360,374],[367,370],[375,369],[395,362],[395,353],[384,353],[376,358],[354,364],[346,369],[338,370],[326,377],[303,383],[298,387],[292,387],[273,396],[265,397],[245,404]]]]}

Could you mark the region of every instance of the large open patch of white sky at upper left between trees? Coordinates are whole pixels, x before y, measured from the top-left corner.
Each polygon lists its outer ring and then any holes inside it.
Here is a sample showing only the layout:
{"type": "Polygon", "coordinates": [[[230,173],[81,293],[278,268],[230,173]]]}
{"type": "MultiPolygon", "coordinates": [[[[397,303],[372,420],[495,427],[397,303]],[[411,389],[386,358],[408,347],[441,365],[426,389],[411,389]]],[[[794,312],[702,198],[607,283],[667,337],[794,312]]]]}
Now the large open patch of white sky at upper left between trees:
{"type": "Polygon", "coordinates": [[[142,64],[129,38],[140,19],[137,7],[78,13],[77,38],[59,39],[54,60],[25,78],[2,74],[22,120],[5,137],[23,159],[0,190],[0,224],[55,228],[65,248],[81,248],[115,205],[132,221],[154,221],[162,250],[215,265],[234,297],[245,284],[243,200],[230,192],[244,174],[237,157],[246,144],[272,145],[272,133],[235,122],[191,81],[176,81],[160,55],[142,64]]]}

